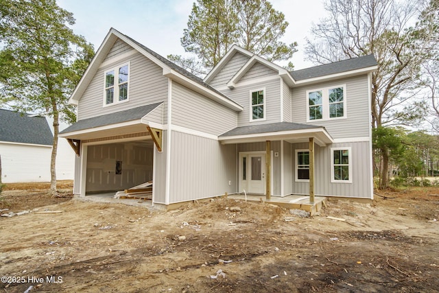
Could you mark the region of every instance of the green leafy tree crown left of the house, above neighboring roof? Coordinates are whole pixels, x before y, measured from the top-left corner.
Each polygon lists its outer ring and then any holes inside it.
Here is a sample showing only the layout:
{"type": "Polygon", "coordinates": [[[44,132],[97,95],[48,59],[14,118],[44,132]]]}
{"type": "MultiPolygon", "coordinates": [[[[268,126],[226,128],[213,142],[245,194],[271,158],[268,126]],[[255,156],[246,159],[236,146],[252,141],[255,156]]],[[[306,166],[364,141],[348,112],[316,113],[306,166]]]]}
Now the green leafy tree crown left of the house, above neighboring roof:
{"type": "Polygon", "coordinates": [[[3,104],[74,121],[69,94],[93,57],[73,34],[75,19],[55,0],[3,0],[0,8],[0,84],[3,104]]]}

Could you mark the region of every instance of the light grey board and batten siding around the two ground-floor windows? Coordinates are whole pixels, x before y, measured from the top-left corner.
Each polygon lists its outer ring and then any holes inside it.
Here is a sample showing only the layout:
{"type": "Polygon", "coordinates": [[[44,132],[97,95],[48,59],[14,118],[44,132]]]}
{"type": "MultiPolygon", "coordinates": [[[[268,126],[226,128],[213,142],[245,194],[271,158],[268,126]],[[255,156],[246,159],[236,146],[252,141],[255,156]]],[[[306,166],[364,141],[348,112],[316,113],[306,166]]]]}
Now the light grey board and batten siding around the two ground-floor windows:
{"type": "MultiPolygon", "coordinates": [[[[308,143],[292,145],[292,194],[309,194],[308,182],[296,182],[295,150],[308,149],[308,143]]],[[[326,147],[315,146],[315,187],[319,196],[371,198],[370,143],[333,143],[326,147]],[[331,148],[351,148],[352,183],[331,183],[331,148]]]]}

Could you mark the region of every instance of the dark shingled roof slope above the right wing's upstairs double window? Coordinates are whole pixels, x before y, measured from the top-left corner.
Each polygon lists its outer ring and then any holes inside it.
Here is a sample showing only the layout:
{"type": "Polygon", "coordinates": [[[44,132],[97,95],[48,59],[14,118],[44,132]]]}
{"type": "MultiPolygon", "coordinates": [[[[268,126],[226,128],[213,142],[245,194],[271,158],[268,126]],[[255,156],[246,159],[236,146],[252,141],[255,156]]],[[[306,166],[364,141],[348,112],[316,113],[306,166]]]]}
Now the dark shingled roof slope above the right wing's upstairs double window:
{"type": "Polygon", "coordinates": [[[309,67],[306,69],[291,71],[289,74],[292,75],[294,80],[299,81],[307,80],[309,78],[319,78],[324,75],[331,75],[366,67],[372,67],[375,65],[377,65],[377,60],[375,60],[375,57],[373,55],[366,55],[358,58],[319,65],[316,67],[309,67]]]}

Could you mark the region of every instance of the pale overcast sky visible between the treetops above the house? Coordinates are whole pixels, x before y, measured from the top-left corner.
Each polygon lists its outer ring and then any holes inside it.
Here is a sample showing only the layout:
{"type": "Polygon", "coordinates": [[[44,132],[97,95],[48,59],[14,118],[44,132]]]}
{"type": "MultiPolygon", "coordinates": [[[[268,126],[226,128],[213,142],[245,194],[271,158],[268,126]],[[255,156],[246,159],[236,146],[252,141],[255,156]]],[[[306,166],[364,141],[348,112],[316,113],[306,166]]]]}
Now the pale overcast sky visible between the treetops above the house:
{"type": "MultiPolygon", "coordinates": [[[[169,54],[183,55],[180,45],[183,30],[194,0],[57,0],[58,5],[72,12],[76,19],[75,34],[85,36],[95,50],[114,27],[163,57],[169,54]]],[[[292,62],[295,69],[311,67],[305,62],[303,46],[312,23],[325,16],[322,0],[271,0],[274,9],[283,12],[289,25],[282,40],[296,41],[298,53],[292,62]]],[[[287,62],[286,62],[287,63],[287,62]]],[[[286,65],[281,64],[281,65],[286,65]]]]}

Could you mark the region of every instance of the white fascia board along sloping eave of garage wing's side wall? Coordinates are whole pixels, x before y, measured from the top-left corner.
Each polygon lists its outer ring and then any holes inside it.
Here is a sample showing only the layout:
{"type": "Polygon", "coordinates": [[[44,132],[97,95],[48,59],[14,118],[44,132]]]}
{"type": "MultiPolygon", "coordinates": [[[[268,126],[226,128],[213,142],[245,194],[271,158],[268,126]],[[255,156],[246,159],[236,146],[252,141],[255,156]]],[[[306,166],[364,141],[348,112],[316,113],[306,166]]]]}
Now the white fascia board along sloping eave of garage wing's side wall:
{"type": "Polygon", "coordinates": [[[181,84],[187,86],[189,89],[192,89],[193,91],[196,91],[198,93],[202,93],[202,95],[205,95],[206,97],[209,97],[213,99],[215,102],[218,102],[219,104],[222,104],[232,110],[241,112],[244,110],[244,107],[233,102],[230,99],[226,99],[226,97],[223,97],[222,95],[219,95],[215,93],[214,91],[211,91],[209,89],[206,89],[201,84],[198,84],[196,82],[193,82],[189,78],[187,78],[184,75],[181,75],[180,73],[172,70],[172,69],[163,69],[163,75],[165,75],[167,78],[171,78],[171,80],[175,80],[176,82],[180,82],[181,84]]]}

